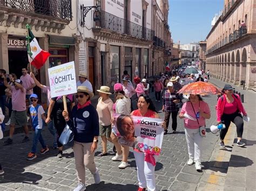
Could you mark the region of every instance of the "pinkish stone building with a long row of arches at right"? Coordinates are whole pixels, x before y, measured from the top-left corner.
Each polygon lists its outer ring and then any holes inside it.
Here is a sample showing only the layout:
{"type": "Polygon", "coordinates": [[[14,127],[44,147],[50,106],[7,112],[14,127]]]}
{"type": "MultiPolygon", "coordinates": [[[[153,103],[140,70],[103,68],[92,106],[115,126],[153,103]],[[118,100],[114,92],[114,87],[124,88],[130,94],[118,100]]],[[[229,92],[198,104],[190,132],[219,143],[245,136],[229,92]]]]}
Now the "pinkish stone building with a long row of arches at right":
{"type": "Polygon", "coordinates": [[[256,2],[225,0],[207,36],[206,69],[217,79],[256,88],[256,2]]]}

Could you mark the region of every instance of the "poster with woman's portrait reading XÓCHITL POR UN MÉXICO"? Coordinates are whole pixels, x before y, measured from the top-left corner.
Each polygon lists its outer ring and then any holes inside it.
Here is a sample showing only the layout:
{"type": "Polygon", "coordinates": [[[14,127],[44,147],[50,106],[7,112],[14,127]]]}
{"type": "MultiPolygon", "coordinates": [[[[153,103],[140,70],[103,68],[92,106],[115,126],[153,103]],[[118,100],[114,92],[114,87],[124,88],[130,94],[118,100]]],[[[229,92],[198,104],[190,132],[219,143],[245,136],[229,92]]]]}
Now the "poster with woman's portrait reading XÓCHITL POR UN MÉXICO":
{"type": "Polygon", "coordinates": [[[122,145],[134,150],[159,155],[163,143],[163,119],[141,116],[114,115],[114,131],[122,145]]]}

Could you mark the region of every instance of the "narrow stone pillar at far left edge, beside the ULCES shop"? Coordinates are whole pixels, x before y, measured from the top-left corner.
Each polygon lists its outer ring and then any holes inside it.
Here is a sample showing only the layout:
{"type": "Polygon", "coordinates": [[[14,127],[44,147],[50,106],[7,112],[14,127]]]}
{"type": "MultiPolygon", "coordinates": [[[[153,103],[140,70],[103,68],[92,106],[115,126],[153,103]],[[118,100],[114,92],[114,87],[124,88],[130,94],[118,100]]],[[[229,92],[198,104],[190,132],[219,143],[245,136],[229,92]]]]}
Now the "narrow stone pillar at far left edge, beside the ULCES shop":
{"type": "Polygon", "coordinates": [[[9,58],[8,58],[8,34],[0,33],[0,68],[6,70],[9,74],[9,58]]]}

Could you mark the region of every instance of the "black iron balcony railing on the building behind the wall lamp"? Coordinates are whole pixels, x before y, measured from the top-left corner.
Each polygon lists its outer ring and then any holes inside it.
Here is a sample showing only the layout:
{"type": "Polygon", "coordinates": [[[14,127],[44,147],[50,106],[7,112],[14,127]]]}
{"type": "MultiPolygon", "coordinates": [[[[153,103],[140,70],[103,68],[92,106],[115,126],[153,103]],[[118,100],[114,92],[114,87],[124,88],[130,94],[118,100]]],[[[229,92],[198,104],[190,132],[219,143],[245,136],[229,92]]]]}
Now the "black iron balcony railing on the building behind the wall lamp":
{"type": "Polygon", "coordinates": [[[129,20],[114,16],[108,12],[100,11],[100,27],[118,33],[129,34],[132,37],[153,40],[154,31],[129,20]]]}

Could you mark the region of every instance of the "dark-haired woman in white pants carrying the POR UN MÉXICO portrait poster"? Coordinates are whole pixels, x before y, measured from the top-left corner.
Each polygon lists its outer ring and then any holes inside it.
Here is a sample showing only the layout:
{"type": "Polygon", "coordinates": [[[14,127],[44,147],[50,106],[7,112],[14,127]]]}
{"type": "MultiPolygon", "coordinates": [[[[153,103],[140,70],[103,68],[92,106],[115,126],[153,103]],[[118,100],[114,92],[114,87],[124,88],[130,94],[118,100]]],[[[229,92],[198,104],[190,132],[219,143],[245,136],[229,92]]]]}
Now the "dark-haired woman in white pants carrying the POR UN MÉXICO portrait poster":
{"type": "MultiPolygon", "coordinates": [[[[141,117],[151,117],[151,118],[160,118],[157,114],[156,108],[153,105],[153,102],[149,96],[140,95],[138,99],[138,109],[131,112],[133,116],[141,117]]],[[[161,125],[165,127],[165,122],[161,125]]],[[[154,168],[156,166],[156,161],[158,159],[157,155],[149,156],[153,157],[153,161],[147,160],[147,154],[140,152],[136,149],[133,151],[136,165],[137,165],[137,175],[139,181],[139,191],[143,190],[156,190],[156,179],[154,177],[154,168]]]]}

